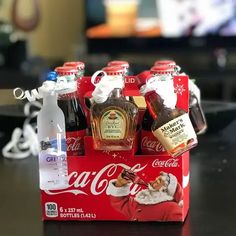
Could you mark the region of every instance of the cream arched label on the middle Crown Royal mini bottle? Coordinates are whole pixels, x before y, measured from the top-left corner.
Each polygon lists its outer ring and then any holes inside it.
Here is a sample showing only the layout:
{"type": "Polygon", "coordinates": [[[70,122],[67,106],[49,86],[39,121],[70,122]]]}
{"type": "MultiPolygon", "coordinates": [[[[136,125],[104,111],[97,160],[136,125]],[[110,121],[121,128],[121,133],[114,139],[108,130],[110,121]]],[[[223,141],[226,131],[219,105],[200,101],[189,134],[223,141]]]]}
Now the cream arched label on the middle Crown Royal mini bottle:
{"type": "Polygon", "coordinates": [[[124,139],[126,132],[126,119],[119,110],[108,110],[101,117],[102,139],[119,140],[124,139]]]}

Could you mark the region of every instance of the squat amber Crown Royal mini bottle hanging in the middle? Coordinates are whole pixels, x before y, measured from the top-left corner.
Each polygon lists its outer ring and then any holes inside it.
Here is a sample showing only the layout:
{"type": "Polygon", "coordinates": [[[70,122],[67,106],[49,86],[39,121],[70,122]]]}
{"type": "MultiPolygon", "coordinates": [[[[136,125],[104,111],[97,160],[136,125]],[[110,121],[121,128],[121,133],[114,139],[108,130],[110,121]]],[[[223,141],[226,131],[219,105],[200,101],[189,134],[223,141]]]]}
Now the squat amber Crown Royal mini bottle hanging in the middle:
{"type": "Polygon", "coordinates": [[[115,88],[104,103],[91,107],[94,148],[98,150],[130,150],[138,121],[138,108],[115,88]]]}

